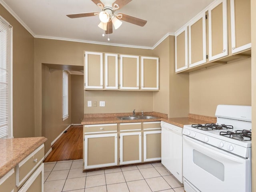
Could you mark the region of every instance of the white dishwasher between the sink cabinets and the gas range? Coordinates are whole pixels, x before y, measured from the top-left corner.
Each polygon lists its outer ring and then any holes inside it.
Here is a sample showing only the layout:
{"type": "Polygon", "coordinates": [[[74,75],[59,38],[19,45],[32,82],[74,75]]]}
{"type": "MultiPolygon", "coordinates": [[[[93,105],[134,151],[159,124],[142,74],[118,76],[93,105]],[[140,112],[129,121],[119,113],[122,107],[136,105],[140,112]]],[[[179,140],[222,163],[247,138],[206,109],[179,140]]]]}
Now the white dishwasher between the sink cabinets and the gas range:
{"type": "Polygon", "coordinates": [[[182,176],[182,128],[161,121],[162,164],[181,182],[182,176]]]}

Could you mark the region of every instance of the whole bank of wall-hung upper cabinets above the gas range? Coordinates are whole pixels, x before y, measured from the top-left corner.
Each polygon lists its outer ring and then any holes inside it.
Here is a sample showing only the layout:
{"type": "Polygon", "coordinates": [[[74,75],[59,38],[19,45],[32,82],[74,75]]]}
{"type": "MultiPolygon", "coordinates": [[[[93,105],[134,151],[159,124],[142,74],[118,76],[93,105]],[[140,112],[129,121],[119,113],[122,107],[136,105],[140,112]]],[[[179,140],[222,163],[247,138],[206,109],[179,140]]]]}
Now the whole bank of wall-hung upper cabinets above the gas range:
{"type": "Polygon", "coordinates": [[[250,0],[215,0],[175,33],[176,73],[250,57],[250,33],[250,0]]]}

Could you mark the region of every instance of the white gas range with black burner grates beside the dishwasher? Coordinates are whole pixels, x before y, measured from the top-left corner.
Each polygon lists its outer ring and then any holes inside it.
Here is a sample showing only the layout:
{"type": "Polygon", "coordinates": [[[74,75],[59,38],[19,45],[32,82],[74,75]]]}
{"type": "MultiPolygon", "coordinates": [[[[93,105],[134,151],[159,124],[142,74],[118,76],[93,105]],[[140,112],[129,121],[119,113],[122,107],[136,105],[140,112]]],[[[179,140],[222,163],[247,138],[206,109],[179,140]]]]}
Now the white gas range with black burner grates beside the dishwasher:
{"type": "Polygon", "coordinates": [[[251,192],[251,106],[218,105],[215,124],[184,125],[186,192],[251,192]]]}

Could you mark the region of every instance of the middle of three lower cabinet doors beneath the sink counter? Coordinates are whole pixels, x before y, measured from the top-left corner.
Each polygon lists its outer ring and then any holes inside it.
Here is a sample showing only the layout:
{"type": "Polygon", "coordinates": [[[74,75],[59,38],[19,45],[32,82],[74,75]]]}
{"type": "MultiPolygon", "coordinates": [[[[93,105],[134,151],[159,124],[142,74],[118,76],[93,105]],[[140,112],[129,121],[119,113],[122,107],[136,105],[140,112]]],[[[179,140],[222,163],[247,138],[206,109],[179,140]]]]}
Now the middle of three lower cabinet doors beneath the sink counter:
{"type": "Polygon", "coordinates": [[[141,132],[120,133],[120,164],[141,162],[141,132]]]}

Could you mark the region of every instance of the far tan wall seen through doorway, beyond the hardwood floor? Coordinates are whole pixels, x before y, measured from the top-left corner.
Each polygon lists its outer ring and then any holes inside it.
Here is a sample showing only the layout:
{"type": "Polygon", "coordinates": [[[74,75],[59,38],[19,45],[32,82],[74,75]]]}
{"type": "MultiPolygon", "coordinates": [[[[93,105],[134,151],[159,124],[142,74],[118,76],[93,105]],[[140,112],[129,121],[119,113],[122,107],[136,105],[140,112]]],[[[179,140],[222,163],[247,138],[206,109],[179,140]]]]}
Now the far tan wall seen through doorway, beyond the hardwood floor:
{"type": "Polygon", "coordinates": [[[84,76],[71,77],[71,123],[80,124],[84,118],[84,76]]]}

